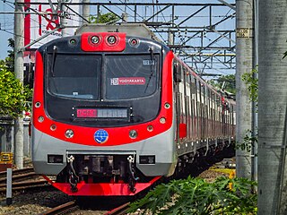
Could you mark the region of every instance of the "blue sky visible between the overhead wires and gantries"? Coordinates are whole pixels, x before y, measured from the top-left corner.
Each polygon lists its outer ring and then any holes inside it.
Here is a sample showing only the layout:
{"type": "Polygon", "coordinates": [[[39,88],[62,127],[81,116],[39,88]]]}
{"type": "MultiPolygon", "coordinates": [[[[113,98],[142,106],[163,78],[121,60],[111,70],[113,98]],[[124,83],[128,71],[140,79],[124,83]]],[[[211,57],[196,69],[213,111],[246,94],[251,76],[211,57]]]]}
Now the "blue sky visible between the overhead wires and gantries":
{"type": "MultiPolygon", "coordinates": [[[[31,0],[32,2],[33,0],[31,0]]],[[[43,0],[44,1],[44,0],[43,0]]],[[[46,0],[45,0],[46,1],[46,0]]],[[[74,0],[75,1],[75,0],[74,0]]],[[[9,38],[13,38],[13,11],[14,11],[14,6],[13,6],[13,2],[14,0],[0,0],[0,59],[4,59],[7,56],[7,50],[9,49],[8,47],[8,39],[9,38]]],[[[72,0],[73,2],[73,0],[72,0]]],[[[178,0],[112,0],[112,1],[108,1],[108,0],[91,0],[91,2],[101,2],[101,3],[178,3],[178,0]]],[[[225,0],[225,2],[230,3],[230,4],[234,4],[235,0],[225,0]]],[[[201,1],[196,1],[196,0],[181,0],[180,3],[201,3],[201,4],[221,4],[222,0],[201,0],[201,1]]],[[[155,13],[159,10],[162,9],[163,6],[161,7],[156,7],[156,8],[152,8],[152,6],[147,6],[143,9],[143,7],[141,9],[138,9],[137,13],[139,17],[144,18],[144,16],[146,15],[146,17],[149,17],[152,15],[152,13],[155,13]]],[[[129,19],[131,20],[131,16],[133,15],[134,11],[133,11],[133,7],[108,7],[109,9],[115,11],[118,14],[122,14],[124,13],[124,10],[126,11],[126,13],[129,16],[129,19]]],[[[192,13],[195,13],[196,10],[200,9],[201,7],[198,8],[193,8],[195,11],[189,11],[187,8],[180,8],[178,7],[180,11],[176,11],[176,14],[178,14],[178,22],[180,22],[181,20],[184,20],[187,16],[189,16],[192,13]]],[[[222,9],[221,9],[222,10],[222,9]]],[[[96,13],[96,6],[91,6],[91,13],[96,13]]],[[[107,13],[108,11],[102,11],[102,13],[107,13]]],[[[160,13],[159,14],[159,19],[160,20],[154,20],[154,22],[169,22],[170,20],[170,11],[166,10],[165,13],[160,13]]],[[[204,9],[201,13],[196,14],[196,16],[189,20],[188,22],[186,22],[185,24],[187,26],[202,26],[202,25],[208,25],[209,20],[207,19],[207,16],[209,13],[208,8],[204,9]],[[206,22],[206,23],[205,23],[206,22]]],[[[226,7],[224,8],[224,11],[213,11],[213,22],[217,22],[217,21],[221,21],[222,20],[222,15],[230,15],[231,13],[234,13],[234,11],[230,10],[230,8],[226,7]],[[217,20],[216,20],[217,19],[217,20]]],[[[235,19],[231,20],[230,22],[222,22],[219,26],[218,26],[218,30],[224,30],[224,29],[235,29],[235,19]]],[[[180,35],[182,36],[181,39],[188,39],[187,37],[189,35],[180,35]]],[[[210,42],[213,41],[213,39],[215,39],[216,37],[218,37],[218,35],[211,35],[211,34],[206,34],[206,37],[204,37],[204,46],[208,46],[208,44],[210,42]]],[[[166,40],[167,36],[161,36],[161,40],[166,40]]],[[[234,39],[235,40],[235,37],[234,39]]],[[[194,38],[191,41],[192,45],[196,45],[201,43],[200,38],[194,38]]],[[[180,41],[176,41],[176,42],[180,42],[180,41]]],[[[222,46],[225,47],[227,43],[229,43],[228,40],[226,39],[219,39],[218,41],[216,41],[218,46],[222,46]]],[[[216,44],[215,43],[215,44],[216,44]]],[[[214,65],[213,65],[214,66],[214,65]]],[[[214,66],[215,67],[215,66],[214,66]]],[[[218,67],[217,72],[221,72],[221,73],[229,73],[229,72],[223,72],[224,68],[220,68],[218,67]]],[[[228,70],[230,71],[230,70],[228,70]]],[[[216,69],[215,72],[216,73],[216,69]]],[[[234,70],[232,70],[231,73],[234,73],[234,70]]]]}

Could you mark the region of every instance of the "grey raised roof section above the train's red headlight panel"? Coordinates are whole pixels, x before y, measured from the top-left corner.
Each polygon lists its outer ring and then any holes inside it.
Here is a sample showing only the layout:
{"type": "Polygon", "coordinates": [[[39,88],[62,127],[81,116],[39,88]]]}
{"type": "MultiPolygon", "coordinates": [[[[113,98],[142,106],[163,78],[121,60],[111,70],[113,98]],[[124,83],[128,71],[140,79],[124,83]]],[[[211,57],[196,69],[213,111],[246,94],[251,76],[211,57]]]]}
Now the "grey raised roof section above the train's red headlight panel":
{"type": "Polygon", "coordinates": [[[158,42],[162,42],[156,35],[143,23],[120,23],[120,24],[83,24],[77,30],[75,35],[80,35],[83,32],[124,32],[127,36],[135,36],[147,39],[154,39],[158,42]]]}

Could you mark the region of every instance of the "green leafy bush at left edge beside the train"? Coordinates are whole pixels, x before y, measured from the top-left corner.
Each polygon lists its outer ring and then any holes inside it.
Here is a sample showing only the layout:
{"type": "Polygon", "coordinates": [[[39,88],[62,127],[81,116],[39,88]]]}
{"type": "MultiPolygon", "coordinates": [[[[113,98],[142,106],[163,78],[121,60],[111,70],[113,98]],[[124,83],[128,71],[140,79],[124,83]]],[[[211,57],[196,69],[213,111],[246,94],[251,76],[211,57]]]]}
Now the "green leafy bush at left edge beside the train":
{"type": "Polygon", "coordinates": [[[5,64],[0,64],[0,115],[13,118],[21,116],[26,108],[24,101],[30,98],[31,90],[23,87],[5,64]]]}

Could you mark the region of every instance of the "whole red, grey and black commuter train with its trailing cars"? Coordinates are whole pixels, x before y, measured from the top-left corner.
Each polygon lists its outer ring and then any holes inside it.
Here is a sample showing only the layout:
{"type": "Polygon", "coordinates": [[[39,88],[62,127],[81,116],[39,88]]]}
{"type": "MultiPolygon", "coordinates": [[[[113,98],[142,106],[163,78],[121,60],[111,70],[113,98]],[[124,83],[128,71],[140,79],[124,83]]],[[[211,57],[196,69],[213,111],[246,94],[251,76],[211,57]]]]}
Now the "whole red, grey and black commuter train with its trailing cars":
{"type": "Polygon", "coordinates": [[[129,196],[230,146],[235,102],[143,25],[86,25],[37,50],[31,132],[59,190],[129,196]]]}

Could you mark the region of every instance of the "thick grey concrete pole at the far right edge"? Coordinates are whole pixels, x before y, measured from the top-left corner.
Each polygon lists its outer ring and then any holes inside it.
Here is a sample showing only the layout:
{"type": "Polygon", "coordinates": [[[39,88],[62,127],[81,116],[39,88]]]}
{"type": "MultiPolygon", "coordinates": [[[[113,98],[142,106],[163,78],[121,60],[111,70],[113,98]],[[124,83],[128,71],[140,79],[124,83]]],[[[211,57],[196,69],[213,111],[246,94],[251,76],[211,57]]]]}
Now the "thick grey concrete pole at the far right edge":
{"type": "Polygon", "coordinates": [[[287,214],[287,1],[259,1],[258,214],[287,214]]]}

